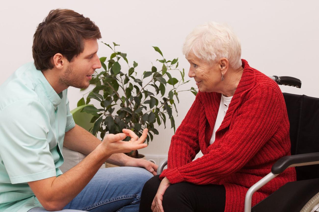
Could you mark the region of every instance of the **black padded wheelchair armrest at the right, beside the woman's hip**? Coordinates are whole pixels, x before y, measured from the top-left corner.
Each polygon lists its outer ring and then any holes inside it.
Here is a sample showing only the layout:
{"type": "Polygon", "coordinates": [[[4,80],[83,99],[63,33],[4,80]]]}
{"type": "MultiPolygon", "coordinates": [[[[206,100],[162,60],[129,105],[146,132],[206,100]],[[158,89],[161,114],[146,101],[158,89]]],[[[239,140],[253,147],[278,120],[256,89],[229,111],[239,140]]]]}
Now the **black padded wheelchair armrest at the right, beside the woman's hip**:
{"type": "Polygon", "coordinates": [[[288,167],[319,164],[319,152],[290,155],[278,159],[271,167],[273,174],[280,174],[288,167]]]}

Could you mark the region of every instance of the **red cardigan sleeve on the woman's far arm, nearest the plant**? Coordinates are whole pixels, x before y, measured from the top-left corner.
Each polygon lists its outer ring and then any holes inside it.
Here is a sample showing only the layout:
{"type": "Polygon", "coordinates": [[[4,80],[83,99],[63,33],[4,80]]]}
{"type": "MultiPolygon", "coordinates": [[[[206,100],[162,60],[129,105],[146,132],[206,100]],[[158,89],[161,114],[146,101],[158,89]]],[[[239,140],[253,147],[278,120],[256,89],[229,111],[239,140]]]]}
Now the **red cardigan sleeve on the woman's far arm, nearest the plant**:
{"type": "Polygon", "coordinates": [[[202,107],[202,103],[199,94],[197,94],[195,101],[171,139],[168,151],[168,169],[188,164],[199,152],[198,122],[200,107],[202,107]]]}

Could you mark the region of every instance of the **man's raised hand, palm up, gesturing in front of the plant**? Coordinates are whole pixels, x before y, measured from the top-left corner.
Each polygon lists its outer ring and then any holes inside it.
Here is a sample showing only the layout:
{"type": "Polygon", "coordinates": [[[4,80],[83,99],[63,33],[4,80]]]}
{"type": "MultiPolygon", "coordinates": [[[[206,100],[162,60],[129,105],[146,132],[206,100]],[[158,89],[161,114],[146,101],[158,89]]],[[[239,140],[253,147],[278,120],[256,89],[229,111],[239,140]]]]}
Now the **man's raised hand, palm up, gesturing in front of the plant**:
{"type": "Polygon", "coordinates": [[[147,144],[144,144],[148,131],[146,128],[143,130],[140,138],[129,129],[123,129],[122,131],[123,133],[108,134],[103,139],[100,146],[106,155],[131,152],[132,150],[142,149],[147,146],[147,144]],[[130,141],[122,141],[126,136],[131,137],[130,141]]]}

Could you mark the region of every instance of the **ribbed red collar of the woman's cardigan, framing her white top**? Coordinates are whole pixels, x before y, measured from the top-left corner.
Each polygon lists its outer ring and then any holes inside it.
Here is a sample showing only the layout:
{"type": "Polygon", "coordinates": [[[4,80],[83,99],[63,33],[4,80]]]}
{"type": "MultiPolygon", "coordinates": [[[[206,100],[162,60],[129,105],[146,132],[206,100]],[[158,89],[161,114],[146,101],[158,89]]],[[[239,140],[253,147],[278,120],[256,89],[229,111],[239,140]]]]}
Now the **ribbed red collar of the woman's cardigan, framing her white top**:
{"type": "MultiPolygon", "coordinates": [[[[241,59],[241,62],[242,67],[244,68],[241,80],[239,81],[232,101],[228,106],[224,120],[216,132],[225,129],[230,125],[235,110],[241,104],[245,94],[255,85],[255,72],[253,68],[249,66],[246,60],[241,59]]],[[[205,114],[212,130],[216,122],[221,94],[216,92],[203,92],[201,97],[204,104],[205,114]]]]}

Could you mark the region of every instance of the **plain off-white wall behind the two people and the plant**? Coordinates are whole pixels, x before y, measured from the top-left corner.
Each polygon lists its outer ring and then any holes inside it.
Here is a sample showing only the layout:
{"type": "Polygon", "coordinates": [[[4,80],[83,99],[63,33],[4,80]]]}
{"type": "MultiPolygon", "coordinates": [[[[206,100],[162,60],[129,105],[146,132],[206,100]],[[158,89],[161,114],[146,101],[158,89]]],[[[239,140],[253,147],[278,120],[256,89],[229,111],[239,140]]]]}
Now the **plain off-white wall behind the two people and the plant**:
{"type": "MultiPolygon", "coordinates": [[[[319,2],[268,1],[6,1],[0,7],[0,58],[2,84],[20,65],[32,60],[32,37],[36,26],[51,9],[73,9],[91,18],[99,27],[101,41],[120,44],[137,70],[149,70],[159,58],[158,46],[166,58],[180,59],[188,69],[181,49],[186,35],[206,21],[229,23],[241,39],[242,58],[267,75],[288,75],[302,81],[302,88],[281,86],[283,92],[319,97],[319,2]]],[[[99,56],[109,51],[101,44],[99,56]]],[[[190,86],[195,86],[191,81],[190,86]]],[[[181,94],[176,126],[194,101],[181,94]]],[[[1,98],[1,97],[0,97],[1,98]]],[[[81,93],[69,88],[70,108],[81,93]]],[[[169,124],[168,124],[169,125],[169,124]]],[[[159,128],[160,136],[140,152],[166,155],[172,129],[159,128]]]]}

